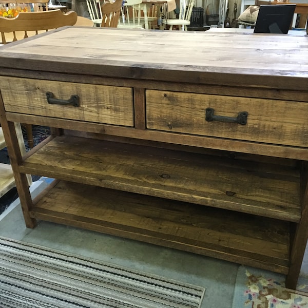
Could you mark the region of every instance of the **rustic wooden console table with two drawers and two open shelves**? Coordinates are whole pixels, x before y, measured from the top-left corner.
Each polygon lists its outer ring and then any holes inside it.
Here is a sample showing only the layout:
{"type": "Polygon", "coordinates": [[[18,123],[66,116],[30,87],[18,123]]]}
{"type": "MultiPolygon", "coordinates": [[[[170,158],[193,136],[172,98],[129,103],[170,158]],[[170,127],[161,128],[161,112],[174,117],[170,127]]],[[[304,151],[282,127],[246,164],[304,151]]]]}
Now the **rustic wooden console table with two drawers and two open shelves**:
{"type": "Polygon", "coordinates": [[[0,49],[26,225],[265,268],[294,288],[308,235],[308,37],[170,32],[65,27],[0,49]],[[14,122],[52,136],[23,156],[14,122]],[[57,180],[31,200],[26,174],[57,180]]]}

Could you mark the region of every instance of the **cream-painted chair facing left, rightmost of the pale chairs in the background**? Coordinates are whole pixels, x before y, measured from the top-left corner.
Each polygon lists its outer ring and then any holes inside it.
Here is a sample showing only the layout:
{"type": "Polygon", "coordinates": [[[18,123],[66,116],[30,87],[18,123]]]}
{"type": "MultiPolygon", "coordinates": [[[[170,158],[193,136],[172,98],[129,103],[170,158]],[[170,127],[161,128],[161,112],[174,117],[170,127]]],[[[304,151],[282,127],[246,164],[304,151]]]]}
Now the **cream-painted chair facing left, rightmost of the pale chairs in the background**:
{"type": "Polygon", "coordinates": [[[190,16],[191,16],[192,8],[194,7],[194,3],[195,3],[195,0],[188,0],[187,4],[185,0],[181,0],[179,18],[163,19],[164,27],[166,25],[169,25],[170,26],[169,30],[173,30],[173,26],[178,26],[179,30],[187,31],[187,25],[190,25],[190,16]]]}

